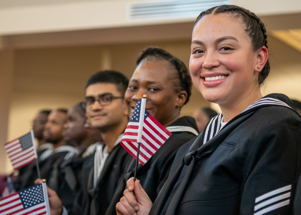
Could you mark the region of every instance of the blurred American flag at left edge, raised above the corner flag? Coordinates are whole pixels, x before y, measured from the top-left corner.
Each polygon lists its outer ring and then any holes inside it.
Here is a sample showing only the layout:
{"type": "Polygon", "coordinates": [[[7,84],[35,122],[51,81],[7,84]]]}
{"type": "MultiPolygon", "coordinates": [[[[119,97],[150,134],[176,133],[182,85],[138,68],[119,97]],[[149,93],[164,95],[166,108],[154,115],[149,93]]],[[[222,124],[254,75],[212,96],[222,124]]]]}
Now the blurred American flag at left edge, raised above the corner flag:
{"type": "Polygon", "coordinates": [[[31,130],[29,133],[5,143],[4,148],[14,170],[30,164],[37,158],[33,137],[33,131],[31,130]]]}

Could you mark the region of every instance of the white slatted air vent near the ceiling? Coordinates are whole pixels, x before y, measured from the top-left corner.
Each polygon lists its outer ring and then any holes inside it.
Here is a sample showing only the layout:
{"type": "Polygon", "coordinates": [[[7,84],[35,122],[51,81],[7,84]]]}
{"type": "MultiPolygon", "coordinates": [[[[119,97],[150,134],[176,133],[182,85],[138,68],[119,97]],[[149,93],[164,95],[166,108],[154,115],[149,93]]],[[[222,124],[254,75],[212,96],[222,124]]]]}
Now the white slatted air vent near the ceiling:
{"type": "Polygon", "coordinates": [[[133,2],[127,8],[127,20],[162,20],[196,18],[211,7],[230,4],[218,0],[160,0],[133,2]]]}

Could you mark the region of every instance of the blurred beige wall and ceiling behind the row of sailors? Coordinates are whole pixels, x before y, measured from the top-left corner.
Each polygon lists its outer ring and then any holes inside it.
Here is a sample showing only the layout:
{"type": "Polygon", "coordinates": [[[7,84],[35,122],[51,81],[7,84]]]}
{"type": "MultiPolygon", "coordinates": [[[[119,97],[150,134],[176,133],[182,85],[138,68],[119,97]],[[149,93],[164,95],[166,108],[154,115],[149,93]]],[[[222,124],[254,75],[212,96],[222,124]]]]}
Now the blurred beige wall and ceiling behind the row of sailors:
{"type": "MultiPolygon", "coordinates": [[[[40,109],[81,101],[97,71],[119,70],[130,78],[138,53],[149,45],[188,66],[195,18],[222,3],[250,9],[267,25],[271,72],[263,94],[301,100],[301,1],[0,1],[0,173],[11,172],[4,143],[28,132],[40,109]],[[188,4],[193,9],[181,12],[188,4]],[[144,11],[135,11],[139,7],[144,11]]],[[[200,106],[216,108],[193,87],[182,115],[200,106]]]]}

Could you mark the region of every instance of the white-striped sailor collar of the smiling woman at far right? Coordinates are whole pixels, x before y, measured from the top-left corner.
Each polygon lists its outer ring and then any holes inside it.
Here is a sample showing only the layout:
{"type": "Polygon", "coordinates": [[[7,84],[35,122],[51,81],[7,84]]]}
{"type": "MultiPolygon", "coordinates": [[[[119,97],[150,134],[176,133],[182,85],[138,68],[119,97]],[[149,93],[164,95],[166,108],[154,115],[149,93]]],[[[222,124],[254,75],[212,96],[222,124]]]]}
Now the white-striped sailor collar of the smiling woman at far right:
{"type": "MultiPolygon", "coordinates": [[[[237,117],[240,117],[241,114],[245,114],[248,111],[251,111],[253,109],[259,108],[259,107],[264,107],[264,106],[284,106],[287,108],[290,108],[293,110],[292,107],[290,107],[288,104],[285,102],[276,99],[276,98],[271,98],[271,97],[263,97],[259,99],[258,101],[254,102],[253,104],[249,105],[244,111],[242,111],[240,114],[238,114],[236,117],[231,119],[222,129],[224,129],[229,123],[234,121],[237,117]]],[[[207,141],[209,141],[211,138],[216,136],[219,131],[221,131],[221,121],[222,121],[222,113],[217,115],[216,117],[213,117],[209,123],[206,125],[204,131],[203,131],[203,144],[205,144],[207,141]]]]}

